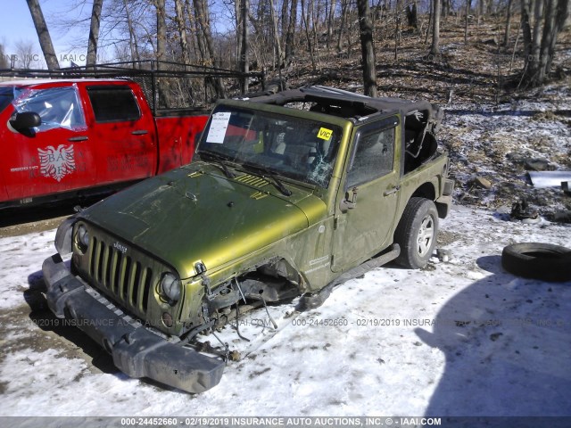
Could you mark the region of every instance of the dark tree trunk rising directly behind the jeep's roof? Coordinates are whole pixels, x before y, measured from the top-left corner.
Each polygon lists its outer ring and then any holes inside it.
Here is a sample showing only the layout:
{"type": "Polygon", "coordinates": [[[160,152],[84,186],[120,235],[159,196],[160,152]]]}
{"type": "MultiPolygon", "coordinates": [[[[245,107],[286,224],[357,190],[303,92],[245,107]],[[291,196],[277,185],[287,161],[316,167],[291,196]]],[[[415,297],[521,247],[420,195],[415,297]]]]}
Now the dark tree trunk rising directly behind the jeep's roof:
{"type": "Polygon", "coordinates": [[[359,12],[360,50],[363,66],[364,94],[377,96],[377,65],[375,63],[375,47],[373,45],[373,25],[368,7],[368,0],[357,0],[359,12]]]}

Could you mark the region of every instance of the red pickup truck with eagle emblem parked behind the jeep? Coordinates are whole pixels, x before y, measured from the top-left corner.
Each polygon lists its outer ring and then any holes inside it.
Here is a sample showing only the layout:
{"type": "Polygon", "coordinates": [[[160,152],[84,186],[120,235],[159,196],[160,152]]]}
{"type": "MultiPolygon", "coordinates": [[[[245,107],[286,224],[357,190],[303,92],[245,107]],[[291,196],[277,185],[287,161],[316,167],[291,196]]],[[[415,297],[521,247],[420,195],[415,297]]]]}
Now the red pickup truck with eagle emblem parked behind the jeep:
{"type": "Polygon", "coordinates": [[[0,83],[0,210],[110,193],[188,163],[205,112],[153,116],[126,79],[0,83]]]}

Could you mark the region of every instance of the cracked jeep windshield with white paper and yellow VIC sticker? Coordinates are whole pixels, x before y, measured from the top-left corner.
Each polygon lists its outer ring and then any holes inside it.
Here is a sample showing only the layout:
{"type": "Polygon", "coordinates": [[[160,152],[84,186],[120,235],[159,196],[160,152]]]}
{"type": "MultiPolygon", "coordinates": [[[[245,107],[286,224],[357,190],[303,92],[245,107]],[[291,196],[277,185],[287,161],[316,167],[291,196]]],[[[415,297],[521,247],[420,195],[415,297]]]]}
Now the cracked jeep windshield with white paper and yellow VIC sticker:
{"type": "Polygon", "coordinates": [[[325,122],[220,106],[198,152],[327,187],[341,134],[325,122]]]}

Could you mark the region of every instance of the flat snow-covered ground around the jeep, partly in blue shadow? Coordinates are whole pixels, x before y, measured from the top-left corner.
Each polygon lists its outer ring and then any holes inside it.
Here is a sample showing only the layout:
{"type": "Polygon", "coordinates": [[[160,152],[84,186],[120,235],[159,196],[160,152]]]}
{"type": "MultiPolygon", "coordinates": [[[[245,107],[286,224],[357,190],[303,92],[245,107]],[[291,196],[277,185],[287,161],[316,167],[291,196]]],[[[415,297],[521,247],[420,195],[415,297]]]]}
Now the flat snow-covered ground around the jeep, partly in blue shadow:
{"type": "Polygon", "coordinates": [[[250,343],[227,327],[244,358],[197,396],[129,379],[50,316],[54,230],[0,238],[0,416],[571,416],[571,282],[501,268],[504,245],[571,247],[571,226],[457,206],[441,227],[449,262],[378,268],[297,317],[272,307],[276,334],[258,310],[250,343]]]}

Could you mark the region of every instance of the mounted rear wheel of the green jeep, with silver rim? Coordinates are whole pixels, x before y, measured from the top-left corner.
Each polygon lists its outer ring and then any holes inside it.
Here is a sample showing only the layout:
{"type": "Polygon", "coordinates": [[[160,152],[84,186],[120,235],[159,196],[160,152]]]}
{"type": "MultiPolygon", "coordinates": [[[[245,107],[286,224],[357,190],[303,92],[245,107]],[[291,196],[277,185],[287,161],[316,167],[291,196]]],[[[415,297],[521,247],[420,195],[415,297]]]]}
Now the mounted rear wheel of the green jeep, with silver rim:
{"type": "Polygon", "coordinates": [[[394,232],[401,246],[396,262],[404,268],[424,268],[432,257],[438,235],[438,210],[425,198],[410,198],[394,232]]]}

